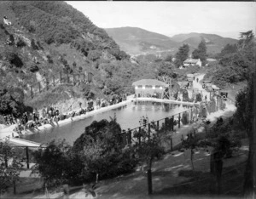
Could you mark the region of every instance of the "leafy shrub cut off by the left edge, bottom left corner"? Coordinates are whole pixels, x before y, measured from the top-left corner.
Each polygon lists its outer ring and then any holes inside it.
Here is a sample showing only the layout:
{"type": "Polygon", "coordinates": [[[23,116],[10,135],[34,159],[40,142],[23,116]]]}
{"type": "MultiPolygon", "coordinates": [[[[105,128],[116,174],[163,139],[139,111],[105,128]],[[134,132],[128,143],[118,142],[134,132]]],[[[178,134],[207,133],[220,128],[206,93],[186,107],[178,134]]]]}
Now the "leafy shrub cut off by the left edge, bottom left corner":
{"type": "Polygon", "coordinates": [[[12,147],[7,142],[0,142],[0,195],[15,181],[20,179],[20,161],[14,156],[12,147]],[[12,160],[10,160],[12,159],[12,160]],[[9,163],[11,161],[11,163],[9,163]]]}

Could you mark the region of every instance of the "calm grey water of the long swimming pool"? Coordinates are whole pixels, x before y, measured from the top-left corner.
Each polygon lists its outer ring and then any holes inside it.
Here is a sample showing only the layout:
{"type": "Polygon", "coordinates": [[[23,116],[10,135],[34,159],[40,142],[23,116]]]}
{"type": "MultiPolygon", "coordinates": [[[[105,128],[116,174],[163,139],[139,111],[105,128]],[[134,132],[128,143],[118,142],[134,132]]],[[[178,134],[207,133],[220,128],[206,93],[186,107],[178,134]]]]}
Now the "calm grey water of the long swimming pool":
{"type": "Polygon", "coordinates": [[[73,121],[61,127],[50,128],[42,130],[40,133],[26,135],[24,139],[44,144],[52,139],[66,139],[70,145],[73,145],[73,142],[79,138],[80,134],[84,133],[84,128],[89,126],[91,122],[101,121],[102,119],[110,121],[110,117],[114,117],[114,114],[116,115],[120,127],[126,130],[127,128],[139,127],[139,121],[142,117],[148,117],[151,122],[170,117],[172,114],[182,111],[183,109],[183,105],[159,102],[131,102],[128,105],[97,113],[94,116],[79,121],[73,121]]]}

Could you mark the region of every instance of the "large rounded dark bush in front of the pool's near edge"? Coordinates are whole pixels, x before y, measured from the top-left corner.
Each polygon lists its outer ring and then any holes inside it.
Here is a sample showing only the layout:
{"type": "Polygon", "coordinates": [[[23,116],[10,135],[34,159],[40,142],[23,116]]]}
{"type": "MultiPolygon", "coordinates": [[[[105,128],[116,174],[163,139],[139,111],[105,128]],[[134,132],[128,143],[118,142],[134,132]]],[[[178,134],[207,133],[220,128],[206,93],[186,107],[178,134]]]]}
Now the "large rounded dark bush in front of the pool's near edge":
{"type": "Polygon", "coordinates": [[[105,179],[134,169],[137,159],[132,156],[132,148],[123,148],[120,132],[115,117],[110,122],[94,121],[74,142],[73,151],[81,156],[88,180],[96,174],[105,179]]]}

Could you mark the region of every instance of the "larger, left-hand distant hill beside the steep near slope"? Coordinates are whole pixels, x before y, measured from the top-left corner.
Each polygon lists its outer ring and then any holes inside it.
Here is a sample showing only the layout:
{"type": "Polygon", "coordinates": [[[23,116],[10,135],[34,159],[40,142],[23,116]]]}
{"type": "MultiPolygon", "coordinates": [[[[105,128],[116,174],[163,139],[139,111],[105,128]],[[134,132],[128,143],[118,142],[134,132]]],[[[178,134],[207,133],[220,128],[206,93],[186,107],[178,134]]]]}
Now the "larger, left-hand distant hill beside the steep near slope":
{"type": "Polygon", "coordinates": [[[174,51],[179,43],[170,37],[137,27],[106,28],[110,37],[128,54],[174,51]]]}

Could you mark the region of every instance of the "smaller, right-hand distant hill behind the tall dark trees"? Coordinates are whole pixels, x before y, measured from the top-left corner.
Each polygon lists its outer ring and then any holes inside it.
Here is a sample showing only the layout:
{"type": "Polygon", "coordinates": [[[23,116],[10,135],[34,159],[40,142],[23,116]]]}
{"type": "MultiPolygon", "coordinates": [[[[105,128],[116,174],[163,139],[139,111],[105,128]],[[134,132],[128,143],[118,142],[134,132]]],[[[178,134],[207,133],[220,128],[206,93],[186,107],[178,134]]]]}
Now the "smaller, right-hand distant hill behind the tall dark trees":
{"type": "Polygon", "coordinates": [[[237,43],[236,39],[220,37],[215,34],[196,32],[189,34],[178,34],[172,37],[172,40],[176,41],[177,43],[188,43],[190,46],[190,51],[193,50],[193,48],[197,48],[202,39],[204,39],[207,43],[207,53],[209,54],[218,54],[228,43],[237,43]]]}

